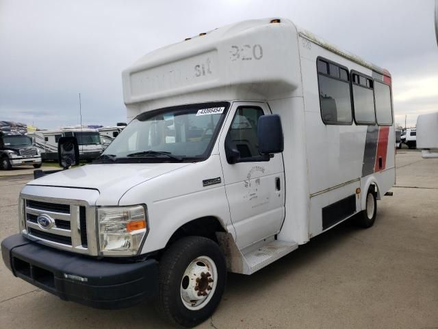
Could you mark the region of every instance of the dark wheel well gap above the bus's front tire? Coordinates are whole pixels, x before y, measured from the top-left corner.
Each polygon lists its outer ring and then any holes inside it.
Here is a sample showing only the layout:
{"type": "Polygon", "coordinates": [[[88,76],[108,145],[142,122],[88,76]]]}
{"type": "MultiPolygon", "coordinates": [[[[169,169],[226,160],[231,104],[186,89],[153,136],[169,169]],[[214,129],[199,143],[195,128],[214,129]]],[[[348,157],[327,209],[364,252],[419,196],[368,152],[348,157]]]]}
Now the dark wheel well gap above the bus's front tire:
{"type": "Polygon", "coordinates": [[[192,235],[204,236],[205,238],[211,239],[217,243],[218,239],[216,238],[216,232],[225,232],[222,223],[220,223],[219,219],[216,217],[208,216],[194,219],[176,230],[172,236],[170,236],[166,247],[181,239],[183,236],[192,235]]]}

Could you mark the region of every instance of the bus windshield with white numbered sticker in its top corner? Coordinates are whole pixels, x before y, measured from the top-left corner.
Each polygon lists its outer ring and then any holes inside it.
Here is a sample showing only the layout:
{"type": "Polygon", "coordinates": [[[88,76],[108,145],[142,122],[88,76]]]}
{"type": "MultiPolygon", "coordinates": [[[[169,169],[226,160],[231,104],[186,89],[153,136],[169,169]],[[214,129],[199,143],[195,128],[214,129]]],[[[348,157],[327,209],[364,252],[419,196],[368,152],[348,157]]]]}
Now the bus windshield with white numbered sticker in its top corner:
{"type": "Polygon", "coordinates": [[[140,114],[103,152],[112,159],[205,160],[229,103],[178,106],[140,114]]]}

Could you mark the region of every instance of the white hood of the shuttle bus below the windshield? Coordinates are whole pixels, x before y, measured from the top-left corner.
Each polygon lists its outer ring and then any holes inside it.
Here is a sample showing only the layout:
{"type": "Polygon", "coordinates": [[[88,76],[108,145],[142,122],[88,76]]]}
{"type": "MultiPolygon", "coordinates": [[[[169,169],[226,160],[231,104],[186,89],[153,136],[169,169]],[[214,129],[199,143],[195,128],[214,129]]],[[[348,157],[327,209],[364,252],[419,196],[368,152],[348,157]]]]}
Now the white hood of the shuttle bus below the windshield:
{"type": "Polygon", "coordinates": [[[190,165],[187,162],[87,164],[46,175],[28,184],[93,188],[99,191],[99,199],[104,199],[104,204],[118,204],[118,199],[129,188],[190,165]]]}

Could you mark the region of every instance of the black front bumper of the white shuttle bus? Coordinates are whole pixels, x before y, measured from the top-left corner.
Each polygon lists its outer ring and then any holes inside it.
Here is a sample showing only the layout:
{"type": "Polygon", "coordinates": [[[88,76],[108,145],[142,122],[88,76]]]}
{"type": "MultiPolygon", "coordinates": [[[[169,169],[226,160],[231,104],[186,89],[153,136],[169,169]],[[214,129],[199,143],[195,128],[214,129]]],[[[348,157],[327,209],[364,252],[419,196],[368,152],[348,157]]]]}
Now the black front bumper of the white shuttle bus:
{"type": "Polygon", "coordinates": [[[62,300],[95,308],[129,307],[155,297],[158,291],[158,263],[153,259],[138,263],[96,260],[39,245],[20,234],[1,242],[1,255],[14,276],[62,300]]]}

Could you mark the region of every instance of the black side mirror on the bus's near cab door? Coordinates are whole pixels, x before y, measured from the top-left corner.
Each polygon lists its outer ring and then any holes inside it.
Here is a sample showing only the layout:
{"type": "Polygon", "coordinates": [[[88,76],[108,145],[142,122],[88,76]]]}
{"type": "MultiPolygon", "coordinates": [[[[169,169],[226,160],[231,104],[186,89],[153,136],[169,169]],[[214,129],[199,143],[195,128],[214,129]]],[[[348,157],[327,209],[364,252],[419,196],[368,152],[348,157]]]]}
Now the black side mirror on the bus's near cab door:
{"type": "Polygon", "coordinates": [[[262,115],[257,126],[261,155],[281,153],[284,149],[283,128],[279,114],[262,115]]]}

